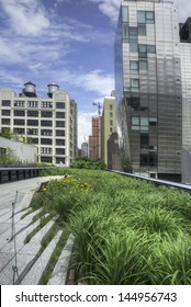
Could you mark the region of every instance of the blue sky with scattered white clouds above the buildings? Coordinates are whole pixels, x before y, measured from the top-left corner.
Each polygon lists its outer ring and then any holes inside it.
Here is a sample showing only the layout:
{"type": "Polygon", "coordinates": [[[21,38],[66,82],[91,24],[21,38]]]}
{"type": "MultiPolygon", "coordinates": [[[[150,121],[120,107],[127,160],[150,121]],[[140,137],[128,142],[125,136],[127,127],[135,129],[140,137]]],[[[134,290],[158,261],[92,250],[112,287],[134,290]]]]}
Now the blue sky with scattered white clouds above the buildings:
{"type": "MultiPolygon", "coordinates": [[[[79,145],[91,134],[92,102],[114,89],[113,44],[120,0],[0,0],[0,88],[31,80],[46,96],[56,82],[78,103],[79,145]]],[[[180,3],[180,21],[190,15],[180,3]]]]}

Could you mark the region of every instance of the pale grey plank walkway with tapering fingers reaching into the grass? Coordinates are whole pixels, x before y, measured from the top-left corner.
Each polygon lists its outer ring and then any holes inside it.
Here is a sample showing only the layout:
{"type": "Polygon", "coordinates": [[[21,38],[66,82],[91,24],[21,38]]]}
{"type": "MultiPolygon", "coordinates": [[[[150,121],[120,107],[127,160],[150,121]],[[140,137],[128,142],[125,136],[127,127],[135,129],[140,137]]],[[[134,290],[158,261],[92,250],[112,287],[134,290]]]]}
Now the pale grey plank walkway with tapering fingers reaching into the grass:
{"type": "MultiPolygon", "coordinates": [[[[26,237],[41,223],[40,219],[33,221],[34,216],[40,214],[41,209],[32,212],[30,203],[36,189],[45,181],[48,181],[48,178],[34,178],[0,185],[1,285],[37,285],[61,236],[63,230],[58,230],[47,247],[42,248],[42,240],[56,223],[57,217],[54,217],[44,227],[36,230],[30,242],[25,243],[26,237]]],[[[49,284],[66,284],[71,249],[72,239],[70,237],[58,259],[53,276],[49,277],[49,284]],[[61,271],[58,268],[61,268],[61,271]]]]}

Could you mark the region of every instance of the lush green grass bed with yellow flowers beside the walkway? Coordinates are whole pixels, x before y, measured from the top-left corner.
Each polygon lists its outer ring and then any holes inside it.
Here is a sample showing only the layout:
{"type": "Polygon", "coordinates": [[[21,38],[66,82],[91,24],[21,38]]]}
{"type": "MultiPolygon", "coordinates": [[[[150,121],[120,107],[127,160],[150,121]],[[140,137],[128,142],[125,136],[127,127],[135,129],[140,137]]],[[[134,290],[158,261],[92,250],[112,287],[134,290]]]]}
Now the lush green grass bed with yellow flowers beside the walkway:
{"type": "Polygon", "coordinates": [[[86,284],[191,284],[191,196],[99,170],[49,169],[34,208],[59,215],[75,236],[86,284]]]}

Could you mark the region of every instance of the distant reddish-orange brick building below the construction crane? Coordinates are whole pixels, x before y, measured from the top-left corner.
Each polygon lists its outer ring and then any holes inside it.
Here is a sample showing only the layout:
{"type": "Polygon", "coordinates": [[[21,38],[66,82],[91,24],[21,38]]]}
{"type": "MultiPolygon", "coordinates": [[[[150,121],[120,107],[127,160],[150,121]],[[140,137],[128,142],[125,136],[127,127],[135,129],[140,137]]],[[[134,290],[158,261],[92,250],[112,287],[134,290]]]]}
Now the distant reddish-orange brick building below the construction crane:
{"type": "Polygon", "coordinates": [[[101,117],[92,117],[92,134],[89,136],[89,158],[99,160],[101,158],[101,117]]]}

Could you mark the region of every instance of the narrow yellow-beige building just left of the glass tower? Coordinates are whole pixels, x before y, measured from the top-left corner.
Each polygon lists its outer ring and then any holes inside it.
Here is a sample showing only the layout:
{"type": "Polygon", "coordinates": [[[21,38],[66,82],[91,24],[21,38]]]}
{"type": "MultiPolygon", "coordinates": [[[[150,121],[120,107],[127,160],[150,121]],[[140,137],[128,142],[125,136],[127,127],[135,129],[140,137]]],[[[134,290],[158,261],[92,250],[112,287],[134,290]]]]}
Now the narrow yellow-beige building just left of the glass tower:
{"type": "Polygon", "coordinates": [[[115,118],[115,96],[112,91],[110,96],[103,101],[103,111],[101,116],[101,160],[108,166],[108,140],[112,133],[116,132],[115,118]]]}

